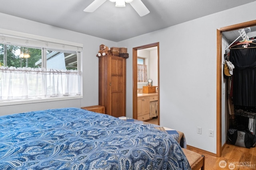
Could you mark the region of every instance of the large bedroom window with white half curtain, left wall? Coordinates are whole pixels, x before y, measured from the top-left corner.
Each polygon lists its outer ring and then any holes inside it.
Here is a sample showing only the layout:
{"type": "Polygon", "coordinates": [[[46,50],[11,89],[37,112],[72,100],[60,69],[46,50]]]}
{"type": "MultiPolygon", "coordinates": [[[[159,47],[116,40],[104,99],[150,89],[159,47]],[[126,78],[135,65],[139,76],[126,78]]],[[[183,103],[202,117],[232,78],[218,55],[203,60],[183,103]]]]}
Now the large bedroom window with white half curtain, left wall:
{"type": "Polygon", "coordinates": [[[0,102],[82,96],[82,45],[36,38],[0,36],[0,102]]]}

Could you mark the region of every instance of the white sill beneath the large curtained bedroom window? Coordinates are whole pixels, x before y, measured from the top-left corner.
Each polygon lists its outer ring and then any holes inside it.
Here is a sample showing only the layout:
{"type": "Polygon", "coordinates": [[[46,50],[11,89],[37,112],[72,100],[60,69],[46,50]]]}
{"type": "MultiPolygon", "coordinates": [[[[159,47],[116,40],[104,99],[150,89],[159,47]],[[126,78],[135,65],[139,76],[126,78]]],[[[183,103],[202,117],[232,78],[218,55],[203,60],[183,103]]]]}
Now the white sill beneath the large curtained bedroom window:
{"type": "Polygon", "coordinates": [[[44,99],[28,99],[28,100],[9,100],[0,102],[0,106],[10,106],[17,104],[31,104],[31,103],[41,103],[41,102],[54,102],[60,100],[72,100],[72,99],[82,99],[83,96],[68,96],[68,97],[54,97],[54,98],[44,98],[44,99]]]}

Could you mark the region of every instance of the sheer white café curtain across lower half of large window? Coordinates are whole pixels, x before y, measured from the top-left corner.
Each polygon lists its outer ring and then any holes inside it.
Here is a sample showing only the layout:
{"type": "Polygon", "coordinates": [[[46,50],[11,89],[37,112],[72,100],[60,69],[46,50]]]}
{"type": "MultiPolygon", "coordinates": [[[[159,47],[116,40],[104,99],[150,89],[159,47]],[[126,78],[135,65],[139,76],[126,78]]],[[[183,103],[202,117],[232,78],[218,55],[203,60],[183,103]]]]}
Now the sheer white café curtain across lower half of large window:
{"type": "Polygon", "coordinates": [[[81,95],[77,70],[0,67],[0,100],[81,95]]]}

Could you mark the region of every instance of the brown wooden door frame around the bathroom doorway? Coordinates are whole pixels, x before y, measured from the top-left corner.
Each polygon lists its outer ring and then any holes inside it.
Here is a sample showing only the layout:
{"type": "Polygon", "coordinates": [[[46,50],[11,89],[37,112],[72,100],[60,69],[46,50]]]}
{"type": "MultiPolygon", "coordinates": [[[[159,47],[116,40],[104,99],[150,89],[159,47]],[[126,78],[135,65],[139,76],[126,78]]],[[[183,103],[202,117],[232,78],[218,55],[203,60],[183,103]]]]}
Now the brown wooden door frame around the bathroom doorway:
{"type": "Polygon", "coordinates": [[[138,114],[138,106],[137,106],[137,100],[138,100],[138,96],[137,96],[137,51],[140,49],[146,49],[149,47],[157,47],[157,55],[158,55],[158,59],[157,59],[157,70],[158,70],[158,125],[160,125],[160,73],[159,73],[159,42],[157,43],[152,43],[152,44],[148,44],[148,45],[142,45],[139,47],[134,47],[132,48],[132,117],[134,119],[137,119],[138,114]]]}

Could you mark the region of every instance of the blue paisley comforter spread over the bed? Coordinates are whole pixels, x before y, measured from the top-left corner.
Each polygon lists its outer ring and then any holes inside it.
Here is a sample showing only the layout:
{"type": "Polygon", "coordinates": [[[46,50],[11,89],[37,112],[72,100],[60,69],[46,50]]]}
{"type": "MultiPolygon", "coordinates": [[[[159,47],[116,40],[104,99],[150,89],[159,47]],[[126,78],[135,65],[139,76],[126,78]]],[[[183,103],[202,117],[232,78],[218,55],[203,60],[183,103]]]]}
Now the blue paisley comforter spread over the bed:
{"type": "Polygon", "coordinates": [[[170,135],[78,108],[0,117],[1,170],[190,170],[170,135]]]}

